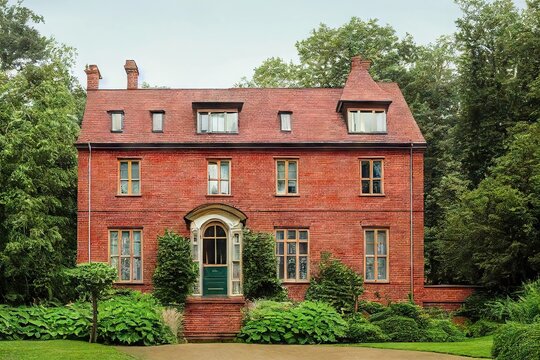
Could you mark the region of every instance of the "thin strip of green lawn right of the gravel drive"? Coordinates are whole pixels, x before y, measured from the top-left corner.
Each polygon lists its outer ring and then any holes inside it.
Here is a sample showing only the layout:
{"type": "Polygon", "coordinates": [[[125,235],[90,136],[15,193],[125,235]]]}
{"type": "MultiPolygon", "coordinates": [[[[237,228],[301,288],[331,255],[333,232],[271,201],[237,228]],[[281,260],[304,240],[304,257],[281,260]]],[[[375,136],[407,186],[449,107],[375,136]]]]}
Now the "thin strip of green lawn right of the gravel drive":
{"type": "Polygon", "coordinates": [[[455,343],[374,343],[354,344],[351,346],[374,347],[379,349],[431,351],[443,354],[491,358],[492,345],[493,337],[485,336],[455,343]]]}

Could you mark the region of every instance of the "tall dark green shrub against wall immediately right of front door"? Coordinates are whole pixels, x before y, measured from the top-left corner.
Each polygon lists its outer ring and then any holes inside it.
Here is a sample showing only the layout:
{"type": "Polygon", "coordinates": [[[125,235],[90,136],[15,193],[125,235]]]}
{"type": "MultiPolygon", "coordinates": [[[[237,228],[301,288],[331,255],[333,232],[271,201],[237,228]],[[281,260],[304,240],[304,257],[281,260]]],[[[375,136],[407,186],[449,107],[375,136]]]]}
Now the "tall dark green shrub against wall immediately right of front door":
{"type": "Polygon", "coordinates": [[[246,299],[285,300],[286,290],[277,277],[275,240],[271,234],[249,229],[243,234],[243,289],[246,299]]]}

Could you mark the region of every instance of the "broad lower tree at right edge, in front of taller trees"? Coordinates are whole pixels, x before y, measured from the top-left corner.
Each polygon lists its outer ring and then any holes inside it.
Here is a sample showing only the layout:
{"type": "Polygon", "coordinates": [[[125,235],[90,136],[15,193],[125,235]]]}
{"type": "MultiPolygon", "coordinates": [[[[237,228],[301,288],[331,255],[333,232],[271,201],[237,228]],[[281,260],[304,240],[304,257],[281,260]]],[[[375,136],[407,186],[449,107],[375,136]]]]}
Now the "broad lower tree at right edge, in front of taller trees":
{"type": "Polygon", "coordinates": [[[511,289],[540,271],[540,124],[518,124],[489,176],[445,217],[440,252],[453,278],[511,289]]]}

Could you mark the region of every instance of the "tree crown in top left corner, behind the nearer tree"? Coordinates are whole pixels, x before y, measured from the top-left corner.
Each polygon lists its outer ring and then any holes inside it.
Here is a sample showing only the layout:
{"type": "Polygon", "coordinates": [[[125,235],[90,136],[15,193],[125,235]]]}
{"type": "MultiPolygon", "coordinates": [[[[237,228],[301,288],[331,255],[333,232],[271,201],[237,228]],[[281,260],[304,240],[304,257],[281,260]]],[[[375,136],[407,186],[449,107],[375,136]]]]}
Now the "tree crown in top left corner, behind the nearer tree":
{"type": "Polygon", "coordinates": [[[0,0],[0,71],[20,70],[49,58],[52,40],[32,26],[42,22],[43,17],[22,6],[22,1],[9,5],[0,0]]]}

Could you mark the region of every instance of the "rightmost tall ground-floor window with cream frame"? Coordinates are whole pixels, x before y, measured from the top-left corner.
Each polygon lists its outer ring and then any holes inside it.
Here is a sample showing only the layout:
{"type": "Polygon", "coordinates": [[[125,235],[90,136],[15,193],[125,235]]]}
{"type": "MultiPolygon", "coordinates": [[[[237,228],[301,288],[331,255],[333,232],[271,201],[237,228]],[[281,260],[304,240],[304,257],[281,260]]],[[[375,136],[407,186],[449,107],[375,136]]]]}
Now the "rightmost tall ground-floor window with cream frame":
{"type": "Polygon", "coordinates": [[[388,281],[388,230],[366,229],[364,238],[366,282],[388,281]]]}

